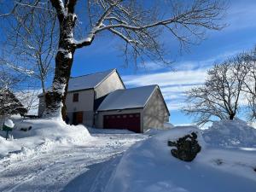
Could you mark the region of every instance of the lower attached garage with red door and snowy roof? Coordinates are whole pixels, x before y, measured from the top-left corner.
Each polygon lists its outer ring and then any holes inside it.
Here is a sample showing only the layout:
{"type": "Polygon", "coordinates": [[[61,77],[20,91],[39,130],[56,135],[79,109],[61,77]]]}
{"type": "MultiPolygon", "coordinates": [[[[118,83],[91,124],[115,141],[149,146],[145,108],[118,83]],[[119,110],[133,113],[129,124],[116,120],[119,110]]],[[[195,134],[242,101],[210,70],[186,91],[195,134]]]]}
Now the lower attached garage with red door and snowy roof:
{"type": "MultiPolygon", "coordinates": [[[[98,106],[98,105],[97,105],[98,106]]],[[[114,90],[96,109],[95,126],[145,132],[165,129],[170,113],[157,85],[114,90]]]]}

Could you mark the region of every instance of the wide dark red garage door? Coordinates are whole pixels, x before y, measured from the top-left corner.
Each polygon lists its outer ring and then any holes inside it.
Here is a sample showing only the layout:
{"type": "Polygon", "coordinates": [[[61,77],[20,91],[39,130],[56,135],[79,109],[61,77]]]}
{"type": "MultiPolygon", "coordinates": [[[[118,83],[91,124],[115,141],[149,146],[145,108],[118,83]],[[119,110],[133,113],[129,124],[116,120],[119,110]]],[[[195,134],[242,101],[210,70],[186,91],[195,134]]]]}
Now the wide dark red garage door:
{"type": "Polygon", "coordinates": [[[104,115],[103,125],[104,128],[107,129],[127,129],[134,132],[140,132],[140,113],[104,115]]]}

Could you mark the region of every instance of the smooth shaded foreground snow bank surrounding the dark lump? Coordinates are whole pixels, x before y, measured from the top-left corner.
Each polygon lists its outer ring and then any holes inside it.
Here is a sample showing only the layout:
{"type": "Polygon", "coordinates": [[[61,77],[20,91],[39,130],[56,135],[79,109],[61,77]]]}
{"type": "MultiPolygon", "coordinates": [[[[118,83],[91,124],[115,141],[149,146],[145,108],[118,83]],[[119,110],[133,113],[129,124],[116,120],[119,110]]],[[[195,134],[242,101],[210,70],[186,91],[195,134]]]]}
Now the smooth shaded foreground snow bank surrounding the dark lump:
{"type": "Polygon", "coordinates": [[[175,127],[128,149],[104,191],[254,192],[256,151],[209,148],[195,127],[175,127]],[[196,131],[201,152],[192,162],[177,160],[167,141],[196,131]]]}

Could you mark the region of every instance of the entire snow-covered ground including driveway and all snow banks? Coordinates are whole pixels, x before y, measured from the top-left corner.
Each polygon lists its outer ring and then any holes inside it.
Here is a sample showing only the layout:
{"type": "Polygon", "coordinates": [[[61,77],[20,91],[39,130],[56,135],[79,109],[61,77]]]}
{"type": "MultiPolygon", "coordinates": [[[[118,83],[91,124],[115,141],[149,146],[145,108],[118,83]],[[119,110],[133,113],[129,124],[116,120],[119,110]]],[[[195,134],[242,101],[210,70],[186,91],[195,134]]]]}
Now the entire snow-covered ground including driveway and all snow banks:
{"type": "Polygon", "coordinates": [[[15,119],[15,139],[0,137],[0,191],[256,191],[255,130],[241,120],[218,122],[207,131],[88,130],[15,119]],[[30,131],[19,131],[29,125],[30,131]],[[167,141],[191,131],[201,152],[192,162],[177,160],[167,141]]]}

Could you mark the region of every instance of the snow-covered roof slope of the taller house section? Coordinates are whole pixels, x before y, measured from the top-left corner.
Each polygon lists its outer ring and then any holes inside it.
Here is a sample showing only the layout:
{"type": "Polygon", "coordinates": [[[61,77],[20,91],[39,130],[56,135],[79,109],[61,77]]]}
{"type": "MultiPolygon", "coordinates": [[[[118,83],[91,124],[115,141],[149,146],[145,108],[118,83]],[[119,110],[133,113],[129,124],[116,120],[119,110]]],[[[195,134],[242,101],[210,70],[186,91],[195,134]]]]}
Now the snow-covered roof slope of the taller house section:
{"type": "Polygon", "coordinates": [[[102,81],[108,78],[108,76],[113,72],[116,72],[116,69],[108,70],[105,72],[92,73],[74,78],[72,77],[69,79],[67,91],[87,90],[91,88],[96,88],[98,84],[102,83],[102,81]]]}

